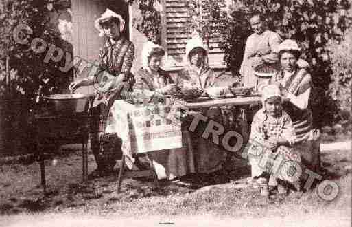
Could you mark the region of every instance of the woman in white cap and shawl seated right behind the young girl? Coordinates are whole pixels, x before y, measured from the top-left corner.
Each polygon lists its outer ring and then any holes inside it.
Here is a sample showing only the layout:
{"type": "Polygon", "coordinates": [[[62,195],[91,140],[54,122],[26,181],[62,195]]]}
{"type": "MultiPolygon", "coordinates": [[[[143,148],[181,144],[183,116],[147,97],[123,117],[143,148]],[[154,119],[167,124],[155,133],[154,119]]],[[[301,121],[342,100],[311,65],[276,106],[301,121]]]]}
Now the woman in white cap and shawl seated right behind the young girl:
{"type": "Polygon", "coordinates": [[[303,164],[312,171],[320,168],[320,132],[312,125],[312,77],[297,65],[301,48],[296,41],[285,40],[277,48],[281,71],[270,79],[281,87],[285,98],[283,109],[292,118],[296,132],[295,147],[300,151],[303,164]]]}

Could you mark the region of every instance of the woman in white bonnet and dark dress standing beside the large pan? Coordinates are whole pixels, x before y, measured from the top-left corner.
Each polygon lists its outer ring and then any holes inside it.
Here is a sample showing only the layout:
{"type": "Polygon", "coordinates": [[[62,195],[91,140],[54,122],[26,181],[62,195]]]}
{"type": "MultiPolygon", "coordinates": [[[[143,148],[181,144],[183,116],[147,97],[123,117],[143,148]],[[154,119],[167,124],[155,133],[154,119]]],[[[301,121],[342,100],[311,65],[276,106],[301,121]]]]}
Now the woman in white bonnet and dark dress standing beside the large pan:
{"type": "Polygon", "coordinates": [[[130,73],[134,45],[121,36],[124,25],[124,19],[109,9],[95,21],[99,36],[106,37],[99,52],[99,67],[93,76],[69,85],[72,92],[81,86],[95,85],[97,88],[91,122],[91,149],[97,169],[91,173],[91,177],[110,173],[116,159],[121,157],[121,139],[116,134],[105,134],[104,131],[113,102],[123,98],[121,94],[132,88],[134,83],[134,76],[130,73]]]}

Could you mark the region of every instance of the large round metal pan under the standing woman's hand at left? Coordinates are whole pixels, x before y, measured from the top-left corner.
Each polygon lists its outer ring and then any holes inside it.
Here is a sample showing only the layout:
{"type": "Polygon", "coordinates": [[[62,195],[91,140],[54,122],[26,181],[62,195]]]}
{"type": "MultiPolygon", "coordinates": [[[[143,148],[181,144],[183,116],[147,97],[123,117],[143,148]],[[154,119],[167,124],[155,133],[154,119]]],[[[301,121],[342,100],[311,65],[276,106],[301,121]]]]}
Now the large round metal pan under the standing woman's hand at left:
{"type": "Polygon", "coordinates": [[[44,96],[49,109],[59,114],[76,114],[87,112],[92,94],[53,94],[44,96]]]}

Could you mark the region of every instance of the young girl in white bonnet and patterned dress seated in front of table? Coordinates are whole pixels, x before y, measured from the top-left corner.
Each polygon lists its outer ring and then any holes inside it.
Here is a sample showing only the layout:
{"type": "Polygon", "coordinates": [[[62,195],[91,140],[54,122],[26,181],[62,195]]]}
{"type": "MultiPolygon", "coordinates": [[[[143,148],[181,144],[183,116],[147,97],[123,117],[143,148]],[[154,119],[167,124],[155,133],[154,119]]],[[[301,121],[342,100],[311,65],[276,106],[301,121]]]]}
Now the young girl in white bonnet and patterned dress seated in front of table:
{"type": "MultiPolygon", "coordinates": [[[[252,176],[261,186],[261,195],[268,196],[268,178],[275,177],[279,193],[287,193],[284,182],[292,182],[280,169],[282,164],[301,164],[301,157],[292,145],[296,139],[292,120],[283,111],[281,91],[277,85],[264,87],[263,108],[255,114],[250,131],[248,158],[252,166],[252,176]]],[[[298,189],[299,182],[292,182],[298,189]]]]}

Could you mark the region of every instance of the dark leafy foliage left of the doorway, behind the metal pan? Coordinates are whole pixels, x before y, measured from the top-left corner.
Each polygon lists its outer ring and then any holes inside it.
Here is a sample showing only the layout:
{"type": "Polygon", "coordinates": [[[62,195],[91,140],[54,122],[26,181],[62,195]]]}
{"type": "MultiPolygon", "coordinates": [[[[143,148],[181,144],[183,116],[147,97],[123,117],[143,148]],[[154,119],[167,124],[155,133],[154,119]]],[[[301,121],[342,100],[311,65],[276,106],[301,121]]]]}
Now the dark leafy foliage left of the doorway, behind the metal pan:
{"type": "MultiPolygon", "coordinates": [[[[53,0],[5,0],[0,9],[0,70],[1,80],[5,80],[5,58],[10,58],[12,76],[10,85],[1,83],[1,98],[26,98],[30,109],[36,108],[39,94],[58,92],[64,83],[71,78],[70,73],[61,72],[58,67],[64,66],[62,61],[43,60],[50,45],[62,47],[64,41],[49,23],[50,6],[58,1],[53,0]],[[49,7],[48,7],[49,6],[49,7]],[[14,40],[13,31],[17,25],[25,24],[32,29],[32,34],[23,30],[20,38],[27,38],[27,44],[20,44],[14,40]],[[40,38],[47,43],[44,52],[38,54],[31,48],[34,38],[40,38]],[[10,87],[10,89],[9,89],[10,87]]],[[[52,9],[51,9],[52,10],[52,9]]]]}

